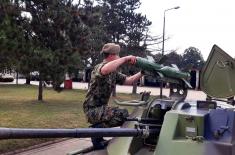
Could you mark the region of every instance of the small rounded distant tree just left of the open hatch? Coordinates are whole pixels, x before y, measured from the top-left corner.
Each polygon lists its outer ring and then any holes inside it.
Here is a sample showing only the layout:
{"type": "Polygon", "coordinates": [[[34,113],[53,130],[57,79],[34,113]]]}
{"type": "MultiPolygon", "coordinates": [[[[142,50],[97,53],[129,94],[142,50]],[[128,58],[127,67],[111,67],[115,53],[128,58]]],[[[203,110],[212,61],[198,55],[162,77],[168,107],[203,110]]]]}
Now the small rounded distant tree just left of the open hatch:
{"type": "Polygon", "coordinates": [[[189,47],[184,51],[181,66],[184,66],[185,68],[190,67],[191,69],[201,70],[204,63],[205,61],[199,49],[195,47],[189,47]]]}

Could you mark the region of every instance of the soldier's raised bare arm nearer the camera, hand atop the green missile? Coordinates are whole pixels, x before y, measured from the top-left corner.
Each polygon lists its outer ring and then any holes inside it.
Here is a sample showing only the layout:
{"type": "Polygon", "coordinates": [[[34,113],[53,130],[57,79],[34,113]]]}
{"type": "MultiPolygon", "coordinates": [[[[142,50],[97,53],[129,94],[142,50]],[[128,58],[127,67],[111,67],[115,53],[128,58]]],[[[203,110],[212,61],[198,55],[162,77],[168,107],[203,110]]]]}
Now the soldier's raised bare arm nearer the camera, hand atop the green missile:
{"type": "Polygon", "coordinates": [[[100,72],[102,75],[107,75],[111,72],[116,71],[119,66],[121,66],[122,64],[126,62],[130,62],[130,64],[135,64],[136,57],[130,55],[130,56],[125,56],[125,57],[110,61],[101,68],[100,72]]]}

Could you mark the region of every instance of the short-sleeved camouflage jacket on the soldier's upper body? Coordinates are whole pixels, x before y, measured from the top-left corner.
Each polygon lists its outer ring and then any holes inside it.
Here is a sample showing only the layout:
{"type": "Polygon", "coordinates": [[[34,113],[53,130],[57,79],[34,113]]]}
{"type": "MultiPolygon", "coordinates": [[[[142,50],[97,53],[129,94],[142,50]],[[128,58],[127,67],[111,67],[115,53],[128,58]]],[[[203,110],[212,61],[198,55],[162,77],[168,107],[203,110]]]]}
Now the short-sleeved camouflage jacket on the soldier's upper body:
{"type": "Polygon", "coordinates": [[[117,71],[109,73],[108,75],[102,75],[100,69],[106,63],[106,61],[103,61],[96,65],[91,72],[90,87],[83,103],[85,113],[90,108],[107,105],[115,85],[125,82],[126,75],[117,71]]]}

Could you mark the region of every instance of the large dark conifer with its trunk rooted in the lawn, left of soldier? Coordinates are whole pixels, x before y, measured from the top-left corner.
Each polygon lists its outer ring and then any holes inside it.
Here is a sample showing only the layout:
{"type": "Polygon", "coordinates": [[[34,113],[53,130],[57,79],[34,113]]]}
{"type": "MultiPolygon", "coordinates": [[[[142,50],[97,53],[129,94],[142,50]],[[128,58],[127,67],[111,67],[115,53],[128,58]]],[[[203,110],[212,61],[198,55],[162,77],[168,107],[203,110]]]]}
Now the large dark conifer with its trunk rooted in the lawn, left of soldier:
{"type": "Polygon", "coordinates": [[[38,100],[42,100],[42,83],[51,80],[60,90],[65,73],[80,65],[80,47],[85,44],[86,27],[81,22],[78,6],[72,1],[25,1],[25,10],[32,16],[31,37],[33,69],[40,74],[38,100]]]}

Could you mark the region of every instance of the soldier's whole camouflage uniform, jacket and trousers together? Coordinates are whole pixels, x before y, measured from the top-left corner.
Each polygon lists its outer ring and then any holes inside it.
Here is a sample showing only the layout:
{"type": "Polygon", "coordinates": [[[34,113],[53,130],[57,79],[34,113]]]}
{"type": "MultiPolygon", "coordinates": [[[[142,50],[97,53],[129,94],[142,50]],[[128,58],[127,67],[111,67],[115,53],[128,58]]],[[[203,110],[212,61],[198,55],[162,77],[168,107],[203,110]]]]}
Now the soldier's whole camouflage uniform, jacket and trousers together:
{"type": "Polygon", "coordinates": [[[95,66],[91,73],[91,82],[83,109],[87,120],[91,124],[101,123],[103,127],[120,126],[128,116],[126,109],[109,107],[108,101],[116,83],[123,84],[126,76],[120,72],[102,75],[100,69],[106,61],[95,66]]]}

